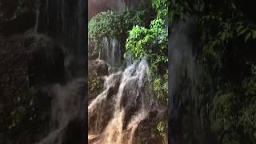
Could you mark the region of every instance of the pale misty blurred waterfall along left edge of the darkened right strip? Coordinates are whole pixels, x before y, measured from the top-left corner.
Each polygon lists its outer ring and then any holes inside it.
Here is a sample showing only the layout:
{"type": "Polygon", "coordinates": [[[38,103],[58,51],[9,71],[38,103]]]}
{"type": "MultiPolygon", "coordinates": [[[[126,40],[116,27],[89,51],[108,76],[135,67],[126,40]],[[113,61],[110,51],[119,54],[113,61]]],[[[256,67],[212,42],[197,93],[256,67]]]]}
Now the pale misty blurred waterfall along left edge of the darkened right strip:
{"type": "Polygon", "coordinates": [[[186,133],[182,119],[183,105],[194,96],[195,57],[190,38],[191,22],[179,22],[173,28],[169,45],[170,56],[170,143],[184,143],[186,133]]]}

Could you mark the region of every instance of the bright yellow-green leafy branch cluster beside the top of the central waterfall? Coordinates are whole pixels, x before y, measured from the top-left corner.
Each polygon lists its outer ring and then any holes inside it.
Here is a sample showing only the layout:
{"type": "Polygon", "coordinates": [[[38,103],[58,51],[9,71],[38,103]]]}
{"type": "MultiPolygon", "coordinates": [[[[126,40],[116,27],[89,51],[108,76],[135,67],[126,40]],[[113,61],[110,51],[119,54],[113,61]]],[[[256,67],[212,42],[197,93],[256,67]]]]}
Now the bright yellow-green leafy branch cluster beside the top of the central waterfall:
{"type": "Polygon", "coordinates": [[[146,55],[154,71],[160,65],[168,62],[167,30],[162,19],[155,19],[150,29],[143,26],[134,26],[126,40],[126,54],[132,54],[134,59],[141,59],[146,55]]]}

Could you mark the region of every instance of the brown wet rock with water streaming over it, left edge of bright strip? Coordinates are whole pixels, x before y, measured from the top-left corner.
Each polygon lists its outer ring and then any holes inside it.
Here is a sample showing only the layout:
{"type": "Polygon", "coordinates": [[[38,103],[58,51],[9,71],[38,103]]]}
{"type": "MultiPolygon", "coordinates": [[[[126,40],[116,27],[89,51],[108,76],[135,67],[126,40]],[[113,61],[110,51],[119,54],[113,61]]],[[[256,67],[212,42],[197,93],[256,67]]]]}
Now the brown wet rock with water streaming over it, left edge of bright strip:
{"type": "MultiPolygon", "coordinates": [[[[114,95],[118,92],[122,73],[110,74],[105,78],[104,91],[89,103],[88,130],[101,133],[113,117],[114,95]]],[[[90,94],[89,94],[90,95],[90,94]]]]}

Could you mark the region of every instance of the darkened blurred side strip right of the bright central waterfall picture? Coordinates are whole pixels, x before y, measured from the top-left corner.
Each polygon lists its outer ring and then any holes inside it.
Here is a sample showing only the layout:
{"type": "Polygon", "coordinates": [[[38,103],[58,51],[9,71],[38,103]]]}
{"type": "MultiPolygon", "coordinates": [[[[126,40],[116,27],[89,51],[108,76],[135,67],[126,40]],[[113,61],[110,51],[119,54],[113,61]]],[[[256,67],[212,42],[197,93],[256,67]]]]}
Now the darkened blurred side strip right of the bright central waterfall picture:
{"type": "Polygon", "coordinates": [[[253,3],[169,3],[170,143],[255,142],[253,3]]]}

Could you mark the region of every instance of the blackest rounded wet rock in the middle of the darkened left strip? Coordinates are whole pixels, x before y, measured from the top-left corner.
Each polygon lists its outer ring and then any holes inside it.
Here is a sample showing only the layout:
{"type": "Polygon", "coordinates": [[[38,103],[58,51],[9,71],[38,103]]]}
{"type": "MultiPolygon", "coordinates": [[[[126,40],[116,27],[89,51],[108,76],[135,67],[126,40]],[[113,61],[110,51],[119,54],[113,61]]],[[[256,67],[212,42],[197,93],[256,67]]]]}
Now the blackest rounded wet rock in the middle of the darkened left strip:
{"type": "Polygon", "coordinates": [[[32,35],[26,38],[32,50],[32,61],[28,63],[30,81],[42,83],[62,83],[66,81],[65,54],[62,46],[45,35],[32,35]]]}

